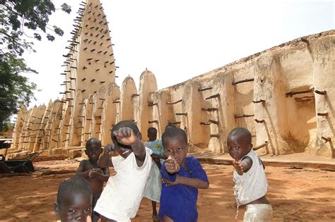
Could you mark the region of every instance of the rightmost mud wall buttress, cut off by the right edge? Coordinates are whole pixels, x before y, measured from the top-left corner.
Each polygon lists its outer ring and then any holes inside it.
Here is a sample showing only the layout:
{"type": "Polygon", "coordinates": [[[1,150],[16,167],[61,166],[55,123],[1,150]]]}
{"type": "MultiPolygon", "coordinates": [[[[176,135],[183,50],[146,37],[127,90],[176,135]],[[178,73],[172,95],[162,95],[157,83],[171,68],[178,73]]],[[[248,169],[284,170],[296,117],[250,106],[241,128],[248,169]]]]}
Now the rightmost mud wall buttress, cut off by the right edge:
{"type": "Polygon", "coordinates": [[[314,51],[315,107],[317,112],[317,139],[310,152],[335,158],[335,35],[322,37],[314,51]],[[320,94],[317,92],[324,92],[320,94]]]}

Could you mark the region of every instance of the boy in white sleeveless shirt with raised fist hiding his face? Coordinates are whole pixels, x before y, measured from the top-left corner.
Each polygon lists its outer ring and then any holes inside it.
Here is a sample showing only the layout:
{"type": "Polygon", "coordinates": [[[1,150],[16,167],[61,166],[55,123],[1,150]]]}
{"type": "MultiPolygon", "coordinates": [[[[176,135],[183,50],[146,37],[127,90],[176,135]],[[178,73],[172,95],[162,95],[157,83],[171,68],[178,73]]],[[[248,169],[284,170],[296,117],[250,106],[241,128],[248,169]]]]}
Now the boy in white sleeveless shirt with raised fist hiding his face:
{"type": "Polygon", "coordinates": [[[98,166],[113,166],[117,173],[110,177],[95,205],[102,221],[130,221],[139,210],[152,165],[151,149],[144,147],[141,139],[133,121],[121,121],[112,128],[114,147],[108,144],[98,160],[98,166]],[[119,156],[110,158],[111,152],[119,156]]]}

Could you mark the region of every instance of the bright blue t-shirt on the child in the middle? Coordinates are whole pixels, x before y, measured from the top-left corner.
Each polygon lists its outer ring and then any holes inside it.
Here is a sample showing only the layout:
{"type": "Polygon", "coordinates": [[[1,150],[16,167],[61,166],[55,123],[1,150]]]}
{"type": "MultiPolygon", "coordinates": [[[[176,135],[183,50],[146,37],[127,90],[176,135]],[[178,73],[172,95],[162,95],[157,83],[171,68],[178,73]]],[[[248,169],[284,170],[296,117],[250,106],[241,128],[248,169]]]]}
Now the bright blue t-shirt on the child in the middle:
{"type": "MultiPolygon", "coordinates": [[[[186,159],[187,169],[180,166],[178,173],[170,174],[165,170],[165,164],[160,168],[162,178],[175,181],[177,175],[186,178],[198,178],[208,182],[208,178],[204,168],[193,156],[186,159]]],[[[162,193],[160,195],[159,218],[163,220],[163,215],[170,217],[175,222],[194,222],[198,218],[196,211],[196,200],[198,199],[198,189],[187,185],[162,185],[162,193]]]]}

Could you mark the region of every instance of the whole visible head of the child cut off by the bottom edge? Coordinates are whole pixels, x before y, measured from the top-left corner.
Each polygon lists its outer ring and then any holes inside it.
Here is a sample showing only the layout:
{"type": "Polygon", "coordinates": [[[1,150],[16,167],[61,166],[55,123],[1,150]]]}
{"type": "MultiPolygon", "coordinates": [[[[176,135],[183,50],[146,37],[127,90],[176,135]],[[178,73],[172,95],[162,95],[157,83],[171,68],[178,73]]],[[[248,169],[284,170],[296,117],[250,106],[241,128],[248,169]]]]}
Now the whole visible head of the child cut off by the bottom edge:
{"type": "Polygon", "coordinates": [[[57,202],[52,204],[61,222],[88,222],[92,214],[92,188],[88,180],[80,177],[61,181],[57,192],[57,202]]]}

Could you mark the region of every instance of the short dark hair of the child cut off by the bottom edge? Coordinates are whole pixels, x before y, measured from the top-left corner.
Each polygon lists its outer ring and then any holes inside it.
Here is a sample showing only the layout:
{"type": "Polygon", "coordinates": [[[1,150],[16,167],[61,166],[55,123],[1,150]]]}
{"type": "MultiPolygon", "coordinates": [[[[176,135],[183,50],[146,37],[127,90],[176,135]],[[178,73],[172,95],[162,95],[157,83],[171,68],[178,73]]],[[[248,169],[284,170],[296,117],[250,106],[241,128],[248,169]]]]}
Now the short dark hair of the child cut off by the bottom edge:
{"type": "Polygon", "coordinates": [[[92,187],[90,187],[90,182],[78,176],[63,180],[58,187],[57,204],[61,206],[64,197],[72,197],[77,194],[92,197],[93,192],[92,187]]]}

